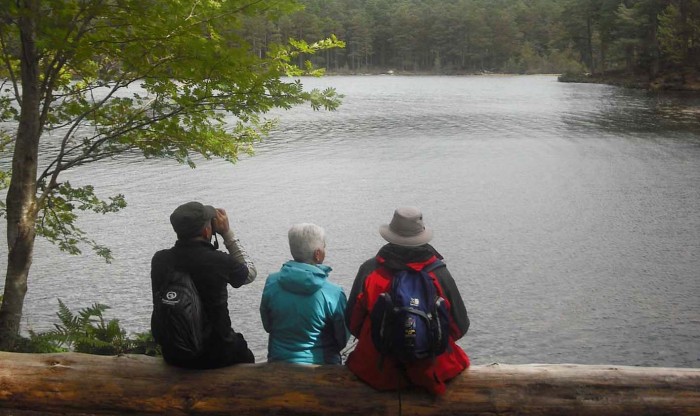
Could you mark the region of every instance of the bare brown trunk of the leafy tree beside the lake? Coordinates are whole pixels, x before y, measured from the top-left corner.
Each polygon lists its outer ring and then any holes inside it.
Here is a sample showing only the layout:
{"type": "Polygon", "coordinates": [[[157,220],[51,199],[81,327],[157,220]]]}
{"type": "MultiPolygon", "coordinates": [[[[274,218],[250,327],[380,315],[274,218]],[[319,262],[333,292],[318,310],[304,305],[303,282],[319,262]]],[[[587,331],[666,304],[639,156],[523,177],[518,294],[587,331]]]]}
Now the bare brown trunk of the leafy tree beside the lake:
{"type": "Polygon", "coordinates": [[[12,179],[7,191],[7,274],[0,307],[0,350],[12,348],[19,332],[27,276],[32,263],[36,231],[36,174],[41,123],[39,106],[39,54],[36,47],[38,0],[26,0],[20,11],[22,44],[22,103],[12,158],[12,179]]]}

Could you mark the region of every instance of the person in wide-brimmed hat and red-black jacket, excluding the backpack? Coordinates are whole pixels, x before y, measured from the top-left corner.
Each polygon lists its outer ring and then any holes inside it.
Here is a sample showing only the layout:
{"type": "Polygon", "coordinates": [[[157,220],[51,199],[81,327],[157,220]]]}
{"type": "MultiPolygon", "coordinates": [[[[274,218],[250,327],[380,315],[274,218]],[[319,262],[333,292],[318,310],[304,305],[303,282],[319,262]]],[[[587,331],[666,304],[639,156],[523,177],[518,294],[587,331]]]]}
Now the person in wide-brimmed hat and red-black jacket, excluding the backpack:
{"type": "Polygon", "coordinates": [[[400,365],[394,357],[382,356],[372,342],[370,324],[370,314],[379,295],[389,291],[391,279],[397,272],[421,270],[442,261],[443,257],[428,244],[433,238],[433,230],[425,226],[423,214],[416,207],[397,208],[391,222],[379,227],[379,234],[388,244],[360,266],[348,297],[348,328],[358,342],[348,356],[347,366],[378,390],[404,386],[408,377],[411,384],[422,386],[436,395],[442,394],[446,389],[445,381],[469,367],[469,357],[455,344],[469,329],[464,301],[447,266],[432,270],[430,274],[438,294],[447,300],[449,307],[450,335],[446,352],[410,365],[400,365]]]}

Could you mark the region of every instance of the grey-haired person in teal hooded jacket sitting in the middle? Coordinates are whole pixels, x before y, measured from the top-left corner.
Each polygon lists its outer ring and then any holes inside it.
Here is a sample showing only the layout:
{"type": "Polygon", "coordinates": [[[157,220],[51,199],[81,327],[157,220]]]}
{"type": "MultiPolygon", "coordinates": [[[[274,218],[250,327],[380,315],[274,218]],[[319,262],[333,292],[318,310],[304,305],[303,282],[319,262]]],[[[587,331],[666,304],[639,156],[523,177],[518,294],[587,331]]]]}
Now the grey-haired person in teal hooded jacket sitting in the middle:
{"type": "Polygon", "coordinates": [[[328,281],[325,231],[303,223],[294,225],[288,236],[294,260],[267,277],[260,302],[263,327],[270,334],[267,360],[341,364],[340,351],[350,336],[347,298],[340,286],[328,281]]]}

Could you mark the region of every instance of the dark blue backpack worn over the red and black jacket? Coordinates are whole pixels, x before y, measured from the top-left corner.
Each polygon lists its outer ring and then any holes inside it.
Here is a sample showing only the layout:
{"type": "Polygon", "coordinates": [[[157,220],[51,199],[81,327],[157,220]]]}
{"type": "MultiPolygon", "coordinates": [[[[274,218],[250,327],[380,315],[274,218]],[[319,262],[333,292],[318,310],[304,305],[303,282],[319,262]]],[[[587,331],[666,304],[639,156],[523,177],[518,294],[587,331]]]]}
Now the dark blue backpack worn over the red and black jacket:
{"type": "Polygon", "coordinates": [[[389,291],[379,295],[370,320],[372,341],[382,357],[411,363],[445,352],[449,311],[428,275],[444,265],[437,260],[420,272],[401,270],[392,277],[389,291]]]}

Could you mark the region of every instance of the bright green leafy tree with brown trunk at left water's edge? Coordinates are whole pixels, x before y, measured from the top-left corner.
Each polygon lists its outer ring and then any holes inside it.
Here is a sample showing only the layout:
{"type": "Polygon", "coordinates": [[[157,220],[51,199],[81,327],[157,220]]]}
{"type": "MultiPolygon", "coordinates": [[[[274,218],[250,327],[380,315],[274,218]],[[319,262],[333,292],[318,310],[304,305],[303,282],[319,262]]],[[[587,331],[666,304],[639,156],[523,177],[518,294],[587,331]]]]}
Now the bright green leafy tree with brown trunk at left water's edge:
{"type": "Polygon", "coordinates": [[[0,165],[0,348],[18,334],[36,235],[110,258],[76,219],[118,211],[123,196],[98,197],[64,172],[127,154],[235,162],[274,126],[263,117],[271,109],[339,105],[333,89],[288,77],[320,75],[307,57],[343,46],[282,35],[275,22],[295,10],[293,0],[0,0],[0,123],[19,126],[0,128],[2,160],[12,155],[0,165]]]}

